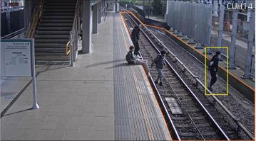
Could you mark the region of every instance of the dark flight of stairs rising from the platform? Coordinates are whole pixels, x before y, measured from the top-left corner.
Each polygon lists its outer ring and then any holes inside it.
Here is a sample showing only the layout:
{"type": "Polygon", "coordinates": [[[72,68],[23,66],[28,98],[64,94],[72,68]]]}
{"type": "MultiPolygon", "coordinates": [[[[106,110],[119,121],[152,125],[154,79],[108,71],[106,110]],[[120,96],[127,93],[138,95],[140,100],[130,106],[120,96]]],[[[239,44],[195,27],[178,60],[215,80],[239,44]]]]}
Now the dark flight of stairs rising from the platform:
{"type": "Polygon", "coordinates": [[[45,0],[35,33],[36,61],[69,61],[66,43],[72,30],[76,0],[45,0]]]}

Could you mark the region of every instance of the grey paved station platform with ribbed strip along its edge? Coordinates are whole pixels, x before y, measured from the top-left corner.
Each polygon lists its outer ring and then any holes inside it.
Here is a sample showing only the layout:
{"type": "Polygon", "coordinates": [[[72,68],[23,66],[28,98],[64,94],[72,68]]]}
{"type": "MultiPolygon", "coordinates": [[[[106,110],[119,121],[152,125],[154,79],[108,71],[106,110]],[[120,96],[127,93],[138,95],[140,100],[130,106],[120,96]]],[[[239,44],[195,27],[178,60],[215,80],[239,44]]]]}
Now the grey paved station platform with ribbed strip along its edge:
{"type": "Polygon", "coordinates": [[[127,65],[131,44],[118,13],[92,35],[75,67],[38,65],[31,85],[1,118],[1,140],[170,140],[143,67],[127,65]]]}

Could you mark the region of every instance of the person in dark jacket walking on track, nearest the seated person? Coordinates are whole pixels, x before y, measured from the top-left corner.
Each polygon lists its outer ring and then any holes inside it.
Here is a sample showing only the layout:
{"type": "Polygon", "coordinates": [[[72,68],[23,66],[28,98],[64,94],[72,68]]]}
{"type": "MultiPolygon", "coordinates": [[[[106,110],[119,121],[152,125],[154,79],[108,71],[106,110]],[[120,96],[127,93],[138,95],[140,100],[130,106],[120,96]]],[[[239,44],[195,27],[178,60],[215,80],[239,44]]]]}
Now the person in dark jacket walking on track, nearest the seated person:
{"type": "Polygon", "coordinates": [[[152,64],[151,64],[151,68],[153,67],[153,65],[155,64],[156,70],[158,71],[158,78],[155,80],[155,84],[158,84],[158,80],[160,81],[159,85],[163,86],[163,82],[162,82],[162,78],[163,78],[163,66],[165,65],[165,50],[162,50],[160,52],[160,54],[155,57],[155,59],[153,60],[152,64]]]}

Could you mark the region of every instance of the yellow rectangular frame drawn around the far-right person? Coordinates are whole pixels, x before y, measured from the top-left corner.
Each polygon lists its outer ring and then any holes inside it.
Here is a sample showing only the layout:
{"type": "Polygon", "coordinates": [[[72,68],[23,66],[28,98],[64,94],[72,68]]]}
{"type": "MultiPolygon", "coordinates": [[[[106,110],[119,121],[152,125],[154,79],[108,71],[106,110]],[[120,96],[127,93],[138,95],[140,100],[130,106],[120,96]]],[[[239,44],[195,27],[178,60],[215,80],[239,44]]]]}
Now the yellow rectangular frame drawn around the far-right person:
{"type": "MultiPolygon", "coordinates": [[[[210,58],[209,58],[210,59],[210,58]]],[[[219,63],[220,65],[220,63],[219,63]]],[[[205,47],[205,95],[228,95],[228,47],[205,47]],[[226,60],[226,64],[227,66],[225,67],[227,69],[227,83],[226,83],[226,93],[225,94],[209,94],[208,91],[207,91],[207,73],[208,73],[208,69],[207,69],[207,51],[208,49],[225,49],[226,52],[227,52],[227,60],[226,60]]]]}

